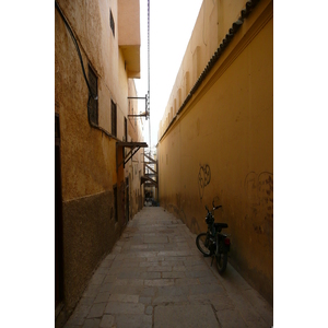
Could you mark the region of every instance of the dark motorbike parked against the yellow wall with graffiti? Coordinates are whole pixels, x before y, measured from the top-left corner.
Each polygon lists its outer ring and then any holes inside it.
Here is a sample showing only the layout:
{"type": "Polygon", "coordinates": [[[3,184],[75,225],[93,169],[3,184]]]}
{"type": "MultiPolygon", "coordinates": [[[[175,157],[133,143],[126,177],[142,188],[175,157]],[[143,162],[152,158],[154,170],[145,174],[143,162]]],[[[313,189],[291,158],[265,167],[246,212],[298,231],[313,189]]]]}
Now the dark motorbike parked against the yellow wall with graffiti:
{"type": "Polygon", "coordinates": [[[218,271],[220,274],[222,274],[226,269],[227,251],[230,251],[231,242],[226,234],[221,233],[222,229],[227,227],[227,224],[214,222],[214,211],[222,208],[222,206],[215,207],[214,200],[212,206],[212,211],[210,211],[206,206],[206,210],[208,211],[206,216],[208,231],[200,233],[196,237],[196,246],[204,257],[212,257],[211,266],[215,257],[218,271]]]}

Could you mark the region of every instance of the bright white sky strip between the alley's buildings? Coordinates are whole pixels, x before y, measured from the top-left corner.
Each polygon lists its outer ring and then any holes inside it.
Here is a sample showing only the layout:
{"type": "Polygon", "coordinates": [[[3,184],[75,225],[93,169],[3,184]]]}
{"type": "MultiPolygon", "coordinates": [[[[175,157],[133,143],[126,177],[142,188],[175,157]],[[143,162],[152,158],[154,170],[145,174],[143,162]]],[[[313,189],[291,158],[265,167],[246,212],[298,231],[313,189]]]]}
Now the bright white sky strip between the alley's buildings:
{"type": "MultiPolygon", "coordinates": [[[[177,72],[189,43],[202,0],[150,1],[150,110],[151,143],[157,143],[159,124],[164,114],[177,72]]],[[[148,0],[140,0],[141,79],[136,79],[138,96],[148,92],[148,0]]],[[[138,108],[144,110],[144,101],[138,108]]],[[[149,121],[144,120],[149,143],[149,121]]]]}

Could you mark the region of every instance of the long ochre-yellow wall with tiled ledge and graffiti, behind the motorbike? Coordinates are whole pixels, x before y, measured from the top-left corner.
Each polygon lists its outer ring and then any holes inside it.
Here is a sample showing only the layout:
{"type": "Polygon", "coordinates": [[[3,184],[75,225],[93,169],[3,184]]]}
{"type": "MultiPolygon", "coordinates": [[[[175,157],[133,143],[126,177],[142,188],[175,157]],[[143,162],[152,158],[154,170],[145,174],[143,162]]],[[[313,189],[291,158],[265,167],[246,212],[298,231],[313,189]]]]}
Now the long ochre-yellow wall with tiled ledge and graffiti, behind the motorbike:
{"type": "Polygon", "coordinates": [[[229,261],[273,303],[273,1],[204,0],[162,121],[161,206],[229,224],[229,261]]]}

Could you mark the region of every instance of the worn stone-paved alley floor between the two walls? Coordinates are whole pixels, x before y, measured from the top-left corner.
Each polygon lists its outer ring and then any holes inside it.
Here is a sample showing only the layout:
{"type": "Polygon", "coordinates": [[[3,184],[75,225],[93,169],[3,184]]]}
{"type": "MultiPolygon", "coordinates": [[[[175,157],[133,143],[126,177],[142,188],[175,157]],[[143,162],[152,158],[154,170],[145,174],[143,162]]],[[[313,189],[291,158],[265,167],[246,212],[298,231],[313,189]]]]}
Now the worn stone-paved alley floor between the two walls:
{"type": "Polygon", "coordinates": [[[220,277],[195,239],[163,208],[143,208],[65,327],[271,327],[272,307],[230,265],[220,277]]]}

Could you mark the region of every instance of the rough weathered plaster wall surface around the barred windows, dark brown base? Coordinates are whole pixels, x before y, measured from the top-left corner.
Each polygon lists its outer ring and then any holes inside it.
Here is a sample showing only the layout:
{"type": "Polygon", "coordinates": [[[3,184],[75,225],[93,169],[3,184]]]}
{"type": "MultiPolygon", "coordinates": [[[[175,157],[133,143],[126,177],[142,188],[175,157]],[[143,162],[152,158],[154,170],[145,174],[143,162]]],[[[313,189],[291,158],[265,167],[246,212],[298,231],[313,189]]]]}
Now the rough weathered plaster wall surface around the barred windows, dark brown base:
{"type": "MultiPolygon", "coordinates": [[[[119,237],[124,225],[124,168],[116,169],[116,142],[128,115],[128,75],[109,10],[117,1],[57,1],[78,38],[85,73],[97,75],[98,126],[87,119],[89,90],[63,20],[55,10],[55,107],[60,118],[65,306],[70,312],[93,270],[119,237]],[[112,131],[110,101],[117,104],[117,138],[112,131]],[[118,222],[113,188],[117,186],[118,222]]],[[[134,2],[138,2],[136,0],[134,2]]]]}

